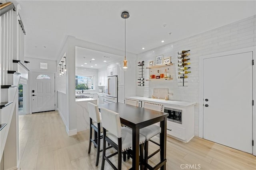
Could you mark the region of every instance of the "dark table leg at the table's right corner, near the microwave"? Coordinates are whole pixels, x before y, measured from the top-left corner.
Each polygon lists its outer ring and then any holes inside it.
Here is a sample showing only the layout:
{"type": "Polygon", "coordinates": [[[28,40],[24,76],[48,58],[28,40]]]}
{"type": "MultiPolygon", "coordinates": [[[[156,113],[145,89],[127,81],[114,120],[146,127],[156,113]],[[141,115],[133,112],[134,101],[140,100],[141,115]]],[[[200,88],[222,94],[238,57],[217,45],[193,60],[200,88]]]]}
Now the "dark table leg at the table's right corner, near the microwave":
{"type": "MultiPolygon", "coordinates": [[[[160,134],[160,159],[161,162],[166,159],[166,117],[160,122],[161,134],[160,134]]],[[[166,164],[161,167],[161,170],[166,169],[166,164]]]]}

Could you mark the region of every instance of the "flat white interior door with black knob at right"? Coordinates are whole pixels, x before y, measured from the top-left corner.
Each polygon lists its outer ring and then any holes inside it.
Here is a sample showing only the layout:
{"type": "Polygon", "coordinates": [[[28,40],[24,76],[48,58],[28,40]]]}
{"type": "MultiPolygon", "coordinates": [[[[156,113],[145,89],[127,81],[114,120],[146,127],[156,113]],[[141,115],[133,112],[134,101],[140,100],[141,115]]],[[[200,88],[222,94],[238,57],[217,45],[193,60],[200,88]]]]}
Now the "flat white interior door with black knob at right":
{"type": "Polygon", "coordinates": [[[203,64],[204,139],[252,153],[252,52],[203,64]]]}

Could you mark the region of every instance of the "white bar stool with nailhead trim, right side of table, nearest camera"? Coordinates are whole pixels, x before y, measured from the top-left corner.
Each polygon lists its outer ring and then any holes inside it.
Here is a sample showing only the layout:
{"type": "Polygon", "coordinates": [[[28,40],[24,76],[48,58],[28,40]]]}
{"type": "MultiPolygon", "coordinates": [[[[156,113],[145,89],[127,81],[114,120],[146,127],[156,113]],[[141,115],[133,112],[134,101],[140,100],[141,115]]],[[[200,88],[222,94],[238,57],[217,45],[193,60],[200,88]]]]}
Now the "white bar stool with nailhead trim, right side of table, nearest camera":
{"type": "MultiPolygon", "coordinates": [[[[156,111],[164,111],[164,105],[158,104],[158,103],[153,103],[153,102],[144,102],[143,107],[145,109],[151,109],[151,110],[156,110],[156,111]]],[[[156,143],[155,141],[150,140],[152,137],[158,135],[161,133],[161,127],[157,125],[150,125],[147,127],[144,127],[140,129],[140,134],[146,137],[146,142],[144,144],[144,168],[147,169],[147,164],[148,164],[148,159],[154,156],[156,153],[160,151],[160,149],[156,150],[154,153],[148,156],[148,141],[153,142],[154,144],[160,146],[159,143],[156,143]]]]}

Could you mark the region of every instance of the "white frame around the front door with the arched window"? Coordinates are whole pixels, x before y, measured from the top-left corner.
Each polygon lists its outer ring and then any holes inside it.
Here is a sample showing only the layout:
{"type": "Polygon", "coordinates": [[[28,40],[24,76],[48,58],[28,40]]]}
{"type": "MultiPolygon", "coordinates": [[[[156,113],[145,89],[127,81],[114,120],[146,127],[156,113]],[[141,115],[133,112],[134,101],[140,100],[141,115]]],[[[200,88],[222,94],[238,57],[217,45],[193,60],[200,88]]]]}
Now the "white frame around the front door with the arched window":
{"type": "Polygon", "coordinates": [[[43,74],[49,74],[53,73],[54,74],[54,97],[55,97],[55,110],[57,110],[57,93],[56,93],[56,72],[50,72],[50,71],[30,71],[29,74],[29,114],[32,114],[32,73],[43,73],[43,74]]]}

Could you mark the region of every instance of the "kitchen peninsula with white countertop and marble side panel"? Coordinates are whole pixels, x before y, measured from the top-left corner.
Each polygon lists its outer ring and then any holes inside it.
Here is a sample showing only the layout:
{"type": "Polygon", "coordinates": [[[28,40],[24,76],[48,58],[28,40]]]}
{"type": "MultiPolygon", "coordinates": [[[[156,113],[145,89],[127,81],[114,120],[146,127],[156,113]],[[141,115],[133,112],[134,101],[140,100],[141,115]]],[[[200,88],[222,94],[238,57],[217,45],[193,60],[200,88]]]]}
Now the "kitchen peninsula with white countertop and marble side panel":
{"type": "Polygon", "coordinates": [[[84,131],[90,129],[90,118],[88,112],[88,102],[97,104],[94,98],[76,98],[76,130],[84,131]]]}

